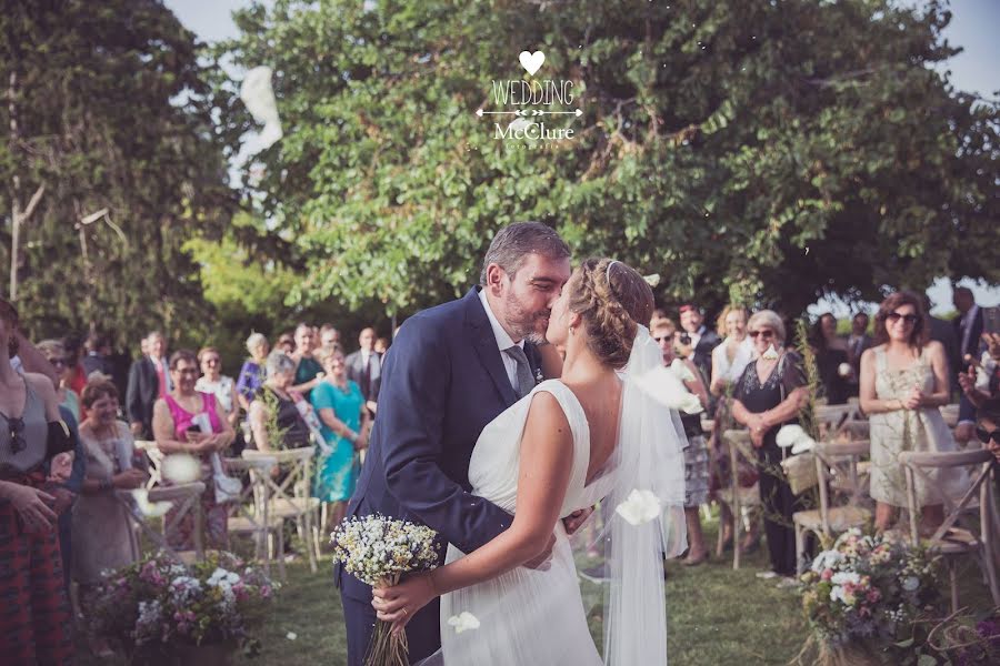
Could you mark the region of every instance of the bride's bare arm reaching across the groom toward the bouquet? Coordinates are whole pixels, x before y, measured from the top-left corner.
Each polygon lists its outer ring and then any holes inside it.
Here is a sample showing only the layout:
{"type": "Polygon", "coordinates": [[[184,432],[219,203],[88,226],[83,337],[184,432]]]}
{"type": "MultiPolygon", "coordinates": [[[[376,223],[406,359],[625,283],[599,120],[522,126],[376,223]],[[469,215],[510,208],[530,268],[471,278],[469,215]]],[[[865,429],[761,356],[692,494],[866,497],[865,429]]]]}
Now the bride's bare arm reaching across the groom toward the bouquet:
{"type": "Polygon", "coordinates": [[[394,587],[374,589],[372,606],[379,619],[401,627],[434,597],[496,578],[544,552],[559,519],[572,464],[573,437],[566,414],[551,393],[538,392],[521,436],[518,511],[510,528],[451,564],[394,587]]]}

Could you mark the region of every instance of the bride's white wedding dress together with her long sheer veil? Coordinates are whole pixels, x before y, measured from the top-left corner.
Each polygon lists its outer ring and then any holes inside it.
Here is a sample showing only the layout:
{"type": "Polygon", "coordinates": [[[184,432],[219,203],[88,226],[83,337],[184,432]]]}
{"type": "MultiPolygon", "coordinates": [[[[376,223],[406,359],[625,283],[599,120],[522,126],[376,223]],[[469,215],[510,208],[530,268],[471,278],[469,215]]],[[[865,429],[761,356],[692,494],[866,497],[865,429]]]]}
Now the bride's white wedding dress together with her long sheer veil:
{"type": "MultiPolygon", "coordinates": [[[[678,381],[662,375],[667,371],[661,359],[649,331],[640,326],[629,365],[620,374],[623,384],[616,450],[590,483],[587,415],[573,392],[558,380],[542,382],[490,422],[469,464],[473,494],[516,513],[521,435],[531,398],[540,391],[554,396],[573,438],[572,472],[560,516],[601,503],[592,519],[597,522],[601,514],[602,525],[593,534],[603,547],[610,581],[603,586],[603,598],[588,614],[574,565],[574,549],[584,549],[578,543],[583,531],[568,537],[560,521],[548,566],[517,567],[441,597],[442,648],[420,666],[667,664],[662,565],[664,555],[677,556],[686,547],[682,450],[687,440],[677,413],[666,406],[671,403],[668,394],[672,390],[664,386],[678,381]],[[632,501],[637,490],[656,496],[656,505],[651,511],[647,506],[646,517],[638,523],[616,512],[632,501]],[[471,614],[478,626],[466,628],[469,618],[463,614],[471,614]],[[588,616],[602,636],[603,656],[591,638],[588,616]],[[450,622],[456,617],[463,618],[458,626],[450,622]]],[[[609,404],[608,408],[617,406],[609,404]]],[[[634,513],[630,515],[634,518],[634,513]]],[[[449,546],[447,562],[462,556],[449,546]]]]}

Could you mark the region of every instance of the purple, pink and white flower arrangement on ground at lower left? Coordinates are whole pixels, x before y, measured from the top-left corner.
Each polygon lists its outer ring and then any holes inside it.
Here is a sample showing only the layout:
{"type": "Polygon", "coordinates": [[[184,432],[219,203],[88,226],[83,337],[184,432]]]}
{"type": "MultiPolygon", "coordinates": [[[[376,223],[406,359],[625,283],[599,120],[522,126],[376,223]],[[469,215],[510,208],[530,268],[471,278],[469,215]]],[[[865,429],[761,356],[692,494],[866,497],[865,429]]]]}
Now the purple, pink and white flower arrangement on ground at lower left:
{"type": "MultiPolygon", "coordinates": [[[[93,595],[90,629],[137,655],[231,643],[253,653],[276,585],[230,553],[187,567],[164,554],[113,572],[93,595]]],[[[141,657],[139,660],[142,660],[141,657]]]]}

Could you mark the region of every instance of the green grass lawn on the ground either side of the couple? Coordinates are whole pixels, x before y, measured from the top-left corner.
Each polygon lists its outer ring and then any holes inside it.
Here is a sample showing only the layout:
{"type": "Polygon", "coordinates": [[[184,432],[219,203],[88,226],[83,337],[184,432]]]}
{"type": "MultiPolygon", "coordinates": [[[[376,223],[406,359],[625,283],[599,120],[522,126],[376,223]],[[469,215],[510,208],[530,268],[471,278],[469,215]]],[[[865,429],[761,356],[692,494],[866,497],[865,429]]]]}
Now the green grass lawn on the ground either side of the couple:
{"type": "MultiPolygon", "coordinates": [[[[707,524],[707,538],[714,544],[716,524],[707,524]]],[[[732,571],[732,554],[698,567],[679,561],[668,565],[667,608],[669,655],[672,666],[788,664],[807,637],[794,589],[779,589],[773,579],[756,573],[767,569],[767,549],[761,546],[732,571]]],[[[276,572],[277,573],[277,572],[276,572]]],[[[989,607],[979,569],[969,566],[962,575],[961,603],[989,607]]],[[[288,583],[278,593],[260,638],[263,649],[256,658],[240,657],[240,666],[286,666],[347,662],[343,614],[333,587],[329,557],[316,574],[309,565],[288,565],[288,583]],[[293,640],[288,638],[294,633],[293,640]]],[[[98,662],[83,658],[82,664],[98,662]]]]}

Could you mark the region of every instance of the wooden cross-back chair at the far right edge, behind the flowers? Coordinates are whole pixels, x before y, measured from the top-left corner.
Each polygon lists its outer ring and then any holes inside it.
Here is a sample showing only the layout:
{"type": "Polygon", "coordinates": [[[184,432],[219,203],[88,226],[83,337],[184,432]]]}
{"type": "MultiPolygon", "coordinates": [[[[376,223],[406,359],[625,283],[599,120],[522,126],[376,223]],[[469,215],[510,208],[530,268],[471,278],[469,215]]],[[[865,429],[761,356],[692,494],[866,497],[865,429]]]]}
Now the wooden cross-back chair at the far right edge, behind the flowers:
{"type": "Polygon", "coordinates": [[[994,533],[993,533],[993,484],[991,472],[993,455],[987,450],[958,451],[944,453],[906,451],[899,454],[899,462],[904,466],[907,475],[907,503],[910,511],[910,539],[919,543],[920,533],[918,521],[920,506],[917,505],[917,477],[919,476],[928,487],[938,492],[943,498],[946,516],[941,526],[927,539],[932,552],[944,556],[948,565],[948,575],[951,584],[951,610],[958,610],[958,572],[956,559],[961,555],[970,555],[979,564],[987,578],[993,604],[1000,605],[1000,587],[997,582],[997,565],[994,562],[994,533]],[[973,466],[974,480],[969,490],[957,502],[943,491],[938,482],[929,474],[930,470],[949,470],[954,467],[973,466]],[[969,514],[976,513],[976,502],[979,506],[977,521],[966,521],[969,527],[978,527],[977,535],[972,529],[959,527],[960,521],[969,514]]]}

